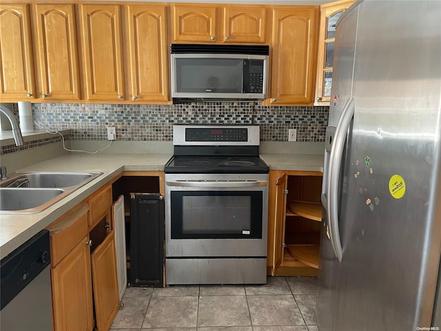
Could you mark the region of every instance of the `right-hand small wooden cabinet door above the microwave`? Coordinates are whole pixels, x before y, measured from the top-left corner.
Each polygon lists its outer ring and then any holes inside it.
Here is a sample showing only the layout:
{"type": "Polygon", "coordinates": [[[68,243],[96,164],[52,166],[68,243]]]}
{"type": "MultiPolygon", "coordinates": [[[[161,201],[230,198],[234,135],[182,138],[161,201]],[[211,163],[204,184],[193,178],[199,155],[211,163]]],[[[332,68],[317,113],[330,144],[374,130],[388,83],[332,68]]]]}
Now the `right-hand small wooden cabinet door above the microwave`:
{"type": "Polygon", "coordinates": [[[265,43],[267,8],[231,6],[223,8],[223,42],[265,43]]]}

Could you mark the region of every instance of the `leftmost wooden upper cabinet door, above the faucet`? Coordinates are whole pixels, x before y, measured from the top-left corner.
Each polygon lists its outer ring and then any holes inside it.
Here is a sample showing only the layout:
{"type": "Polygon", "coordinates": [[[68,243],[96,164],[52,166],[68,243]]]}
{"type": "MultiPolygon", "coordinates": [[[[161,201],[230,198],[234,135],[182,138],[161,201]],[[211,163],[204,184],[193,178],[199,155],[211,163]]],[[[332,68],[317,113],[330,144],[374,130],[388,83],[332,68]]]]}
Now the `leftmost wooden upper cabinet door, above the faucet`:
{"type": "Polygon", "coordinates": [[[24,3],[1,4],[1,101],[14,102],[34,98],[31,51],[28,5],[24,3]]]}

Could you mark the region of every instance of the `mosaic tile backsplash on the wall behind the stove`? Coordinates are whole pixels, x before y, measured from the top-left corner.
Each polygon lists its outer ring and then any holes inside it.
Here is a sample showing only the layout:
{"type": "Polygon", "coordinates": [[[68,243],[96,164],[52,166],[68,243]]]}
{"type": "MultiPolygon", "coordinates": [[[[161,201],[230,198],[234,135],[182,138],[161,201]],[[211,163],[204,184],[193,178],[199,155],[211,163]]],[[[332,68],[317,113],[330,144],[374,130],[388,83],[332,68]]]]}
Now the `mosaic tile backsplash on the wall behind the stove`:
{"type": "MultiPolygon", "coordinates": [[[[18,113],[17,104],[13,111],[18,113]]],[[[69,139],[105,140],[107,126],[119,141],[172,141],[175,124],[260,126],[261,141],[287,141],[297,129],[297,141],[325,141],[329,107],[271,107],[256,101],[188,102],[174,105],[114,105],[34,103],[32,114],[43,128],[70,129],[69,139]]],[[[34,128],[40,130],[35,124],[34,128]]]]}

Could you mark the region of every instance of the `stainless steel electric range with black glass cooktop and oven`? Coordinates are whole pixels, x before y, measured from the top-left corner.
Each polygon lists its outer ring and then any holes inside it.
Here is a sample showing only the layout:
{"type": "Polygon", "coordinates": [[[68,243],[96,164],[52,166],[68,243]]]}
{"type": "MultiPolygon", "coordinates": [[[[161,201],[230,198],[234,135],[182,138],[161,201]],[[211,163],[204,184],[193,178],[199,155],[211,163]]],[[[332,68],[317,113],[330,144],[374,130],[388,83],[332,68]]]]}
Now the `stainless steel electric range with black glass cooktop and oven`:
{"type": "Polygon", "coordinates": [[[258,126],[174,126],[165,283],[266,283],[269,168],[258,126]]]}

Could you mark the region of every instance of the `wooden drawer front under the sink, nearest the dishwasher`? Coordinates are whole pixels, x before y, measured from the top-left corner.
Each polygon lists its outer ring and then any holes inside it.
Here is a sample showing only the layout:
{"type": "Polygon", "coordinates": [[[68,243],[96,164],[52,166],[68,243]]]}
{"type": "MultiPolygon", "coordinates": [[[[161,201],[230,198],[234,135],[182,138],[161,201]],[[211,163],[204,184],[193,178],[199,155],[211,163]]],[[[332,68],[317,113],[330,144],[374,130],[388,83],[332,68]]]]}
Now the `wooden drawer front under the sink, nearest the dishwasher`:
{"type": "Polygon", "coordinates": [[[52,268],[88,235],[88,210],[88,205],[84,204],[61,221],[49,226],[52,268]]]}

